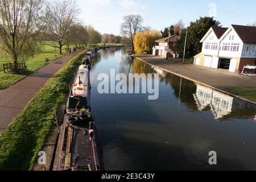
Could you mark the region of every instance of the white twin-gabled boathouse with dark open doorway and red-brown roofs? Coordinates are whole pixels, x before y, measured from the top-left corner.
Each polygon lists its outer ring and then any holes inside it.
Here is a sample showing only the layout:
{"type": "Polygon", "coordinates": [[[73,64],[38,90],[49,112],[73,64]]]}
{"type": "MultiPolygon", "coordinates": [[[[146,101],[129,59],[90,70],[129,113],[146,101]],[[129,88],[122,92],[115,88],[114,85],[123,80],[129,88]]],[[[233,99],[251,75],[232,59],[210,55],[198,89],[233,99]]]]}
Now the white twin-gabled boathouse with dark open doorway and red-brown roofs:
{"type": "Polygon", "coordinates": [[[196,65],[241,72],[245,65],[256,63],[256,27],[212,27],[200,42],[203,48],[194,57],[196,65]]]}

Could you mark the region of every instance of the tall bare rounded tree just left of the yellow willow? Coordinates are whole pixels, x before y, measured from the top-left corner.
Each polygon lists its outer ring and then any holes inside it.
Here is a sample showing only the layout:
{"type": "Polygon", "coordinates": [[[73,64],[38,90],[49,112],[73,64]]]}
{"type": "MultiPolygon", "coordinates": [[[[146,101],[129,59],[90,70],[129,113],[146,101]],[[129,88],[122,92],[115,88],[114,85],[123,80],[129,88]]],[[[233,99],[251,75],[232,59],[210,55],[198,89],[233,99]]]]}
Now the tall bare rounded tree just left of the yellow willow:
{"type": "Polygon", "coordinates": [[[131,40],[131,46],[134,50],[134,37],[138,32],[143,30],[143,18],[141,15],[127,15],[123,17],[123,23],[121,24],[121,34],[128,36],[131,40]]]}

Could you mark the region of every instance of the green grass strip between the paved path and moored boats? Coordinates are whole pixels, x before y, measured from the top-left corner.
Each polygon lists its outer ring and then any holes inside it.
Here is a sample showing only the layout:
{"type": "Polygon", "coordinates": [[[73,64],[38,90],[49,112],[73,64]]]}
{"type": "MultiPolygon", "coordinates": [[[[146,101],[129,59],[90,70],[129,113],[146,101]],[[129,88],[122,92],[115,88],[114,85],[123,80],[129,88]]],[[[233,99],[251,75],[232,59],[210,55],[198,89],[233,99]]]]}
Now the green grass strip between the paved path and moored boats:
{"type": "Polygon", "coordinates": [[[68,84],[82,53],[64,65],[0,135],[0,171],[32,168],[51,127],[55,125],[54,108],[65,100],[68,84]]]}

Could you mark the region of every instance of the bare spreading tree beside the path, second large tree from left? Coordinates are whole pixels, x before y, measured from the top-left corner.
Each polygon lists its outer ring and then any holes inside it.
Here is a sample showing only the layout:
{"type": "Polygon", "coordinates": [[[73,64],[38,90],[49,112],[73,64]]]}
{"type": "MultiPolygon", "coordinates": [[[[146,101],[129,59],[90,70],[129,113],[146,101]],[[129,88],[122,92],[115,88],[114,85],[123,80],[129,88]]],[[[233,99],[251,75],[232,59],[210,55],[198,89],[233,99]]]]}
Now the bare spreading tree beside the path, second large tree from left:
{"type": "Polygon", "coordinates": [[[48,45],[59,48],[60,54],[62,54],[62,47],[67,44],[64,40],[67,40],[78,13],[79,9],[75,0],[52,0],[47,2],[46,15],[44,16],[45,30],[51,40],[57,42],[59,46],[48,45]]]}

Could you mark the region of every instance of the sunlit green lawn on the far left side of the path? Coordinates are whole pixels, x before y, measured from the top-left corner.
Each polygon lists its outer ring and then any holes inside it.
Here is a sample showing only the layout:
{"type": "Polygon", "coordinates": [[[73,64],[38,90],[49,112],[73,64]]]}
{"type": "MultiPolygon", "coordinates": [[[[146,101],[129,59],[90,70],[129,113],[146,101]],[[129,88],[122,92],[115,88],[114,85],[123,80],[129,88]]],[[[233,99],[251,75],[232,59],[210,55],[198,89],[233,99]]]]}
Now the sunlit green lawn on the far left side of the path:
{"type": "MultiPolygon", "coordinates": [[[[40,51],[37,55],[35,55],[34,57],[31,57],[26,61],[28,73],[35,72],[38,69],[42,68],[44,65],[48,64],[46,63],[46,60],[45,60],[46,57],[48,57],[51,61],[53,61],[67,54],[65,51],[65,46],[63,47],[63,55],[59,54],[59,49],[56,49],[56,52],[57,54],[55,57],[55,48],[51,46],[43,46],[42,51],[40,51]]],[[[10,59],[6,59],[4,57],[1,57],[0,55],[0,70],[3,68],[3,64],[10,63],[10,61],[11,61],[10,59]]],[[[26,75],[15,75],[11,73],[0,72],[0,90],[8,88],[9,86],[15,84],[15,82],[19,81],[24,77],[26,77],[26,75]]]]}

